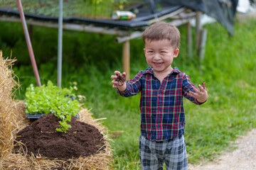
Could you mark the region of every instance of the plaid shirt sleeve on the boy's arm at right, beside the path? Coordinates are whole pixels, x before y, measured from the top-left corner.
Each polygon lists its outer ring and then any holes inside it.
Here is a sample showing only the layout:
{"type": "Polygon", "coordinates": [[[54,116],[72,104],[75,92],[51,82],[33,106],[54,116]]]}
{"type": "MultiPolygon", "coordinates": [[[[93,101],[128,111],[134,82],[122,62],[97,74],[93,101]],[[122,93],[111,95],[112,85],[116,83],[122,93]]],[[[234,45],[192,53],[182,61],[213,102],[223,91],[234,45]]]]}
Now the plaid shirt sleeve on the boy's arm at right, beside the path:
{"type": "MultiPolygon", "coordinates": [[[[185,73],[183,73],[183,74],[184,74],[184,75],[183,75],[183,79],[182,79],[183,96],[184,96],[185,98],[188,98],[189,101],[192,101],[193,103],[195,103],[195,104],[197,104],[197,105],[201,105],[201,104],[205,103],[206,101],[203,102],[203,103],[200,103],[200,102],[198,102],[198,101],[196,100],[196,98],[193,98],[193,97],[191,97],[191,96],[188,96],[188,91],[193,91],[194,93],[196,93],[196,92],[193,90],[192,86],[195,87],[196,89],[198,89],[198,88],[190,81],[190,79],[189,79],[189,77],[188,77],[187,74],[185,74],[185,73]]],[[[199,90],[199,89],[198,89],[198,90],[199,90]]]]}

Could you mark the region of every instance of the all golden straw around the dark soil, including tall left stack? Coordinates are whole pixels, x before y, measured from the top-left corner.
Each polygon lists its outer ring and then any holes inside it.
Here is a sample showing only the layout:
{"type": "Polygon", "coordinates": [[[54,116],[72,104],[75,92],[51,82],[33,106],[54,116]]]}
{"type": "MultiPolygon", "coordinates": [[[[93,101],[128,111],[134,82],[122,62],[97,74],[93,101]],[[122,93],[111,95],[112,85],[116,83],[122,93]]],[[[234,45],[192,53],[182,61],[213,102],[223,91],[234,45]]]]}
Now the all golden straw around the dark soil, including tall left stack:
{"type": "MultiPolygon", "coordinates": [[[[2,53],[1,53],[2,54],[2,53]]],[[[23,101],[14,101],[13,89],[17,85],[14,72],[11,71],[9,60],[0,57],[0,169],[110,169],[112,166],[112,149],[107,128],[92,118],[87,108],[82,108],[78,113],[79,121],[95,126],[103,135],[105,149],[89,157],[77,159],[48,159],[27,154],[26,151],[14,154],[14,139],[18,131],[30,124],[26,118],[25,104],[23,101]],[[3,69],[2,69],[3,68],[3,69]]],[[[16,89],[14,89],[16,91],[16,89]]]]}

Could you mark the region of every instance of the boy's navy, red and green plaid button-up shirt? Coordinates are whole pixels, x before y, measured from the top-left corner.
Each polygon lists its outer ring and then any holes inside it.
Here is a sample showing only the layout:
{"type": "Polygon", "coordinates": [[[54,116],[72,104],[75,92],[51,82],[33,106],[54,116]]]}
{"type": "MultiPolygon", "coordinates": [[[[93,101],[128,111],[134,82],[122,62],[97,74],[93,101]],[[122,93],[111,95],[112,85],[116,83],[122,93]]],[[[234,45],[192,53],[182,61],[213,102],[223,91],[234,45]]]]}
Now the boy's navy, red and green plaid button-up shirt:
{"type": "Polygon", "coordinates": [[[188,75],[174,68],[162,82],[154,77],[151,67],[140,71],[134,79],[127,81],[127,89],[117,90],[121,96],[139,94],[141,111],[141,133],[148,140],[171,140],[184,133],[185,113],[183,96],[201,105],[196,98],[188,96],[194,86],[188,75]]]}

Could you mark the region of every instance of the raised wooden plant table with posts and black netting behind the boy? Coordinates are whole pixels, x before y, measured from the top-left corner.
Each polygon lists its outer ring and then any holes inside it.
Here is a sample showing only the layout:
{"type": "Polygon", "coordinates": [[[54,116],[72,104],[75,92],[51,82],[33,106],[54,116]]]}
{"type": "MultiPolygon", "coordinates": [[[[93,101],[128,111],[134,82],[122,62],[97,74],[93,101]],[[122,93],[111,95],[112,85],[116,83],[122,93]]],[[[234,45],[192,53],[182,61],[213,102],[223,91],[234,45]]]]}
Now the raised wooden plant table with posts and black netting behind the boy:
{"type": "MultiPolygon", "coordinates": [[[[17,2],[20,0],[17,0],[17,2]]],[[[230,34],[233,34],[233,18],[238,0],[127,0],[125,9],[136,13],[129,21],[114,20],[111,13],[120,8],[117,1],[63,1],[61,30],[78,30],[90,33],[117,35],[116,42],[124,42],[123,68],[129,78],[129,40],[142,36],[144,29],[157,21],[168,21],[174,26],[188,24],[188,50],[191,53],[191,18],[197,19],[196,45],[200,42],[200,12],[207,13],[219,21],[230,34]],[[90,3],[91,4],[90,4],[90,3]],[[93,4],[94,2],[95,4],[93,4]],[[89,4],[88,4],[89,3],[89,4]],[[91,5],[91,6],[90,6],[91,5]],[[87,9],[87,10],[86,10],[87,9]]],[[[58,1],[23,0],[26,23],[31,26],[60,28],[58,1]]],[[[124,8],[124,6],[122,6],[124,8]]],[[[62,8],[61,8],[62,9],[62,8]]],[[[14,0],[1,1],[0,21],[21,22],[21,15],[14,0]]],[[[204,35],[206,37],[206,35],[204,35]]]]}

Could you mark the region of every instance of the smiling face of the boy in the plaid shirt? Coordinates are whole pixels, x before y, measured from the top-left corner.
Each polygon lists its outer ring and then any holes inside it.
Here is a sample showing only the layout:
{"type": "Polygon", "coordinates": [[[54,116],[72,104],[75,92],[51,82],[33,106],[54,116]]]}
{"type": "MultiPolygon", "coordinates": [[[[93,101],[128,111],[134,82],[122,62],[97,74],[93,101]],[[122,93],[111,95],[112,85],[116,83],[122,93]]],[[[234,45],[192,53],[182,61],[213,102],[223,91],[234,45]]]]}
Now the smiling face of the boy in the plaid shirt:
{"type": "Polygon", "coordinates": [[[178,48],[174,49],[169,40],[145,40],[146,62],[154,73],[169,74],[173,69],[171,63],[178,56],[178,48]]]}

